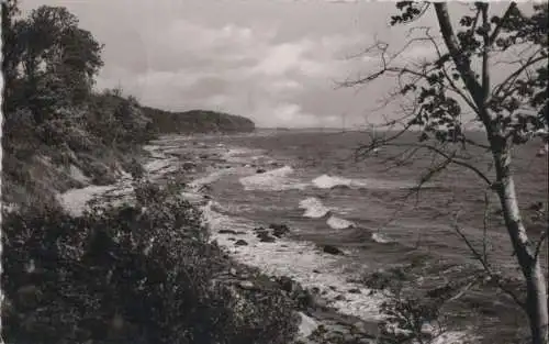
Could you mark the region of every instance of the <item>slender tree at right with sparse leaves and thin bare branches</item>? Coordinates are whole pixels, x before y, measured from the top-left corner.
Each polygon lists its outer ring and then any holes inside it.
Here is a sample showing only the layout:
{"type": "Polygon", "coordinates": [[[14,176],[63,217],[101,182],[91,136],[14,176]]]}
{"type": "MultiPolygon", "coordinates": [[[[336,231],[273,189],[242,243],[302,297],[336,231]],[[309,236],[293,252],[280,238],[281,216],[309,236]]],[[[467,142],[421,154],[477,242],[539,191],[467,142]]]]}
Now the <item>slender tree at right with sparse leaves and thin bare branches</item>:
{"type": "MultiPolygon", "coordinates": [[[[376,42],[365,54],[380,56],[380,68],[366,77],[347,80],[343,86],[368,85],[381,77],[394,77],[397,87],[385,104],[397,99],[406,101],[402,108],[404,113],[397,120],[380,124],[396,131],[373,137],[358,151],[360,156],[386,145],[405,146],[407,157],[426,149],[441,159],[422,177],[422,182],[450,165],[458,165],[477,174],[486,190],[495,193],[524,276],[526,298],[508,292],[528,315],[531,343],[545,344],[548,299],[539,254],[549,229],[537,241],[528,236],[516,197],[512,149],[537,136],[546,143],[548,140],[548,7],[547,3],[534,4],[528,15],[512,2],[503,15],[489,18],[490,5],[475,2],[456,24],[446,3],[399,2],[396,8],[401,13],[391,18],[391,25],[416,23],[433,10],[440,35],[434,34],[432,27],[414,26],[411,34],[419,35],[410,38],[397,52],[392,52],[383,42],[376,42]],[[414,44],[430,44],[435,57],[406,60],[404,54],[414,44]],[[496,64],[506,64],[511,73],[503,77],[495,75],[496,64]],[[472,121],[483,129],[488,144],[469,137],[463,129],[467,111],[474,114],[472,121]],[[418,142],[397,140],[414,130],[419,131],[418,142]],[[469,146],[490,152],[495,171],[488,173],[464,156],[469,146]]],[[[467,243],[492,274],[485,255],[467,243]]]]}

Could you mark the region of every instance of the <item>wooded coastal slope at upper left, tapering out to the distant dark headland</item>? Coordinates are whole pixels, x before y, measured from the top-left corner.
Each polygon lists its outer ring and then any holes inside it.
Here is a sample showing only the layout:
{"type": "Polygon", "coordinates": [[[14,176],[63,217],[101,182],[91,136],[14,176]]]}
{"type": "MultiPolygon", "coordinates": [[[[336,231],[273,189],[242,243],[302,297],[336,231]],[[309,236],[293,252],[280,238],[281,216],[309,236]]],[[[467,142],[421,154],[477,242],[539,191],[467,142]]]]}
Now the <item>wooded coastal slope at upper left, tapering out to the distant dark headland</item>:
{"type": "Polygon", "coordinates": [[[102,45],[65,8],[43,5],[21,18],[16,1],[4,1],[2,24],[5,202],[35,207],[88,182],[111,184],[159,133],[254,130],[236,115],[171,114],[121,90],[93,91],[102,45]]]}

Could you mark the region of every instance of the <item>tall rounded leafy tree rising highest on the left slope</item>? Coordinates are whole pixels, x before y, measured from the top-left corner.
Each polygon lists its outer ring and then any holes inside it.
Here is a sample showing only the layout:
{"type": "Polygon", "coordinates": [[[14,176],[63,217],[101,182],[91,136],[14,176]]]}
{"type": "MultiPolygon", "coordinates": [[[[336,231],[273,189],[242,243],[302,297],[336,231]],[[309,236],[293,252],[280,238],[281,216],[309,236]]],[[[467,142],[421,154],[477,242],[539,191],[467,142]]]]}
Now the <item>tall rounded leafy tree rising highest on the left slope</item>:
{"type": "Polygon", "coordinates": [[[78,27],[78,19],[66,8],[42,5],[29,18],[12,21],[11,26],[8,45],[12,56],[4,70],[13,71],[13,78],[23,85],[23,99],[35,121],[42,123],[55,108],[82,103],[103,63],[102,45],[78,27]]]}

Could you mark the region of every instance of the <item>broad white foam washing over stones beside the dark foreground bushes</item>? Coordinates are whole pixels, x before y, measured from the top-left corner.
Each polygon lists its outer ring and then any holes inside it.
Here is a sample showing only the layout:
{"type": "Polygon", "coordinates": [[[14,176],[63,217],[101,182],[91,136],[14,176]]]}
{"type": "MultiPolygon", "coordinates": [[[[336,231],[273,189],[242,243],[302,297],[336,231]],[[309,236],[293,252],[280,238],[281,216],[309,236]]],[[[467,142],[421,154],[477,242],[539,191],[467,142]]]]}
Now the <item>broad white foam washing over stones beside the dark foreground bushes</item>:
{"type": "Polygon", "coordinates": [[[325,292],[323,298],[341,313],[370,320],[382,318],[380,306],[385,297],[382,293],[370,295],[370,289],[363,285],[348,282],[348,276],[337,263],[338,257],[324,254],[306,242],[280,238],[274,243],[261,243],[251,231],[254,223],[221,214],[213,209],[214,206],[210,202],[202,208],[204,224],[209,225],[212,240],[225,247],[237,262],[255,266],[268,275],[291,277],[305,288],[317,287],[325,292]],[[235,246],[229,240],[233,235],[219,233],[222,229],[247,230],[238,238],[245,240],[248,245],[235,246]],[[359,289],[361,293],[345,292],[351,288],[359,289]],[[337,300],[341,292],[345,300],[337,300]]]}

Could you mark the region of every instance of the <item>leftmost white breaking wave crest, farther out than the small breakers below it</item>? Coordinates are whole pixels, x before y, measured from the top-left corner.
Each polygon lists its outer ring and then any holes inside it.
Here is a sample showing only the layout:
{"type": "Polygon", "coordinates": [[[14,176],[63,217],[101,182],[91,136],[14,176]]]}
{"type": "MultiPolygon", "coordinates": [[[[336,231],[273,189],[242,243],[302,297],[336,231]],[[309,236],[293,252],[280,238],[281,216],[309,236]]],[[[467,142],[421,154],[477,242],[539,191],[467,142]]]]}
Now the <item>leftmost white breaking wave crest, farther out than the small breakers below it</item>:
{"type": "Polygon", "coordinates": [[[247,191],[281,191],[305,188],[305,184],[301,184],[294,179],[289,178],[289,176],[293,173],[294,170],[291,166],[284,166],[262,174],[243,177],[239,179],[239,181],[244,186],[244,189],[247,191]]]}

